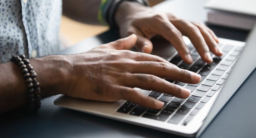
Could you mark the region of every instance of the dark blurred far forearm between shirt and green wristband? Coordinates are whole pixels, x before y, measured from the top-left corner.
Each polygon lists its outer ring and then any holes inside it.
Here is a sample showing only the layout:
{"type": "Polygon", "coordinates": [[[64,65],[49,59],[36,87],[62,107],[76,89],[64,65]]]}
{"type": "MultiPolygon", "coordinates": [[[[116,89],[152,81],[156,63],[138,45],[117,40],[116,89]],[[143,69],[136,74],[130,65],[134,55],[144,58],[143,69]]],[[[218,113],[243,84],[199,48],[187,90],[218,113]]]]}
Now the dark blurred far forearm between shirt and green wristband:
{"type": "Polygon", "coordinates": [[[63,14],[80,22],[100,24],[97,18],[100,4],[101,0],[63,0],[63,14]]]}

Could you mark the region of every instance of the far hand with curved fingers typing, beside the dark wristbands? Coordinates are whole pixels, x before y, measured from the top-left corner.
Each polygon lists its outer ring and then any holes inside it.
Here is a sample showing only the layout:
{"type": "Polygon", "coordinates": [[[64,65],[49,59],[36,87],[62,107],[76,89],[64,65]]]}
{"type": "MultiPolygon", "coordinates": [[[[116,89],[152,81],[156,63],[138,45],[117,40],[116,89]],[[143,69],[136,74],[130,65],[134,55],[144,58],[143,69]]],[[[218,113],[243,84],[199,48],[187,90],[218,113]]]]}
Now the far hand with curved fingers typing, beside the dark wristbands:
{"type": "Polygon", "coordinates": [[[190,39],[206,62],[213,61],[210,51],[218,56],[223,53],[217,46],[218,38],[211,29],[202,23],[179,19],[171,13],[161,13],[151,7],[125,1],[118,8],[115,19],[120,29],[120,36],[136,34],[138,36],[136,48],[144,53],[151,53],[153,46],[150,39],[155,35],[161,35],[170,41],[187,63],[192,63],[193,59],[183,41],[183,35],[190,39]]]}

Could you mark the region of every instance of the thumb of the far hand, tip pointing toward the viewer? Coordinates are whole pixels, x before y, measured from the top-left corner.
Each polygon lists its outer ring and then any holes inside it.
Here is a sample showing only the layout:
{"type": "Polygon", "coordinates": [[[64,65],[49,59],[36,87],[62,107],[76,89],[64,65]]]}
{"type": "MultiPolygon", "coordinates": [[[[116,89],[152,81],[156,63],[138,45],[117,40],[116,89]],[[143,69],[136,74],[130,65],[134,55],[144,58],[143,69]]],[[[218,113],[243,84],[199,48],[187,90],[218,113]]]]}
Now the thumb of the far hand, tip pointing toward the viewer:
{"type": "Polygon", "coordinates": [[[150,54],[153,49],[153,44],[149,39],[138,35],[136,48],[138,51],[150,54]]]}

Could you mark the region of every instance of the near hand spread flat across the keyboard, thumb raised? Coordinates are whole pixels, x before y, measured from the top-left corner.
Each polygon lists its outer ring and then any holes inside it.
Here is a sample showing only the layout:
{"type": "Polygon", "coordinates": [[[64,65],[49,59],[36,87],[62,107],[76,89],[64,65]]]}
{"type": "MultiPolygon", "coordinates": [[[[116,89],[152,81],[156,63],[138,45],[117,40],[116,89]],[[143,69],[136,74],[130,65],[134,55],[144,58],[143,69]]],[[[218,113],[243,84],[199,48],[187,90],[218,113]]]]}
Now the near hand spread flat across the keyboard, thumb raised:
{"type": "Polygon", "coordinates": [[[136,41],[133,34],[84,53],[68,55],[73,70],[65,95],[110,102],[124,99],[152,109],[160,109],[164,103],[143,95],[134,87],[187,98],[188,89],[163,78],[196,84],[201,76],[158,56],[129,51],[136,41]]]}

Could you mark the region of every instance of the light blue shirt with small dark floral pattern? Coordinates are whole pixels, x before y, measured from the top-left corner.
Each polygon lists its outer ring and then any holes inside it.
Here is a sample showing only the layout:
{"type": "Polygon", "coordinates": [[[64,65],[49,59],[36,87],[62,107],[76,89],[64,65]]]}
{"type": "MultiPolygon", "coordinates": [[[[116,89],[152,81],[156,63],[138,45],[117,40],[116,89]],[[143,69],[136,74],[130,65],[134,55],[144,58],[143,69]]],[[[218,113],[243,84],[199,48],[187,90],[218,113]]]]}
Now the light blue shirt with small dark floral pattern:
{"type": "Polygon", "coordinates": [[[61,0],[0,0],[0,63],[60,49],[61,0]]]}

